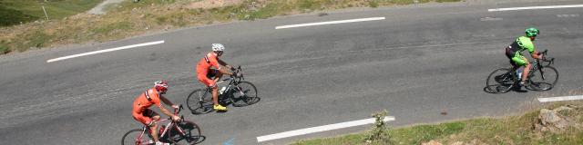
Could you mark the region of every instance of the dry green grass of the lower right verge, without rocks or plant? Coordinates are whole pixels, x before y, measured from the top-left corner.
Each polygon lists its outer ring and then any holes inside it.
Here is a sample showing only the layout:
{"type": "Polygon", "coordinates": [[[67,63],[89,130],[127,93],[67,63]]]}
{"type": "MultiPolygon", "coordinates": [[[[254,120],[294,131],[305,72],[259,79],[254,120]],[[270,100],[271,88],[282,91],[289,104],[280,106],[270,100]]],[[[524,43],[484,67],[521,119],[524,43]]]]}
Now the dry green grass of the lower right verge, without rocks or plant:
{"type": "MultiPolygon", "coordinates": [[[[582,102],[575,102],[582,105],[582,102]]],[[[557,106],[557,105],[551,105],[557,106]]],[[[549,108],[556,108],[550,107],[549,108]]],[[[569,112],[574,121],[583,123],[583,108],[569,112]]],[[[504,118],[480,118],[465,121],[451,121],[438,124],[415,125],[388,131],[393,144],[421,144],[437,140],[442,144],[452,144],[456,141],[477,144],[583,144],[583,131],[571,127],[567,131],[537,132],[533,124],[537,122],[538,111],[528,112],[521,116],[504,118]]],[[[335,138],[299,140],[294,145],[321,144],[366,144],[363,142],[365,132],[344,135],[335,138]]],[[[373,143],[379,144],[379,143],[373,143]]]]}

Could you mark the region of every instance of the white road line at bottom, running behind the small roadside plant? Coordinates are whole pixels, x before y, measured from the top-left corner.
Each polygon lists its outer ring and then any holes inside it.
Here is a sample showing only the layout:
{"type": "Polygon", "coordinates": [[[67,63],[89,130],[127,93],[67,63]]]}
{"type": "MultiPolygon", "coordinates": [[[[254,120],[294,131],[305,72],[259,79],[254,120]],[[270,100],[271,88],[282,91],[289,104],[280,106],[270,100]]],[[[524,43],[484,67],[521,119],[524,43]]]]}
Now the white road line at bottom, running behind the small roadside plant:
{"type": "MultiPolygon", "coordinates": [[[[384,117],[383,121],[394,121],[394,117],[393,116],[384,117]]],[[[281,132],[281,133],[275,133],[275,134],[257,137],[257,142],[283,139],[283,138],[288,138],[288,137],[298,136],[298,135],[303,135],[303,134],[309,134],[309,133],[314,133],[314,132],[332,131],[332,130],[338,130],[338,129],[349,128],[349,127],[353,127],[353,126],[359,126],[359,125],[371,124],[371,123],[374,123],[374,118],[358,120],[358,121],[346,121],[346,122],[342,122],[342,123],[317,126],[317,127],[306,128],[306,129],[302,129],[302,130],[285,131],[285,132],[281,132]]]]}

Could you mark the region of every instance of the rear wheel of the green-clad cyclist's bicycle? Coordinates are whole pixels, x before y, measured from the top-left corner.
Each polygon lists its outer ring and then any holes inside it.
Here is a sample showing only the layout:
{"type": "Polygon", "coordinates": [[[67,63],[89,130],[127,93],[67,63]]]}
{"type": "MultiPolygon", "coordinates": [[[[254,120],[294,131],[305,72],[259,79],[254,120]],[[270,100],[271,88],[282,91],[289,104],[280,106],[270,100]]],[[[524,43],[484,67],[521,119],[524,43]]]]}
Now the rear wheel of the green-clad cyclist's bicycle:
{"type": "Polygon", "coordinates": [[[500,68],[494,70],[488,75],[486,88],[490,92],[504,93],[512,90],[516,82],[516,75],[514,75],[514,72],[511,69],[500,68]]]}

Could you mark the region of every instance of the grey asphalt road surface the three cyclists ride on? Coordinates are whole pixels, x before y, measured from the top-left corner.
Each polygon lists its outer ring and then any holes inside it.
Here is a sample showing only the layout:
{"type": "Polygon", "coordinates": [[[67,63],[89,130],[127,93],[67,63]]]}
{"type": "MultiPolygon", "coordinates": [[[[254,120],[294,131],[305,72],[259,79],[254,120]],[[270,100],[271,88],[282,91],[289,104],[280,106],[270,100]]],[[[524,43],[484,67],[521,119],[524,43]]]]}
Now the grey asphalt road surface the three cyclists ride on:
{"type": "MultiPolygon", "coordinates": [[[[261,102],[224,113],[185,117],[201,126],[202,144],[258,144],[256,137],[387,110],[393,126],[503,116],[542,105],[538,97],[583,90],[582,8],[488,12],[581,1],[432,4],[351,9],[253,22],[212,24],[95,45],[0,56],[0,144],[118,144],[140,124],[131,102],[151,83],[169,80],[167,96],[186,103],[195,64],[210,43],[242,65],[261,102]],[[567,15],[567,16],[565,16],[567,15]],[[385,17],[381,21],[274,29],[285,24],[385,17]],[[548,92],[484,92],[488,73],[508,66],[503,48],[525,28],[541,30],[537,49],[556,57],[560,78],[548,92]],[[46,60],[135,43],[165,43],[54,63],[46,60]],[[442,115],[441,112],[447,112],[442,115]]],[[[158,110],[155,110],[158,111],[158,110]]],[[[261,142],[363,131],[367,126],[261,142]]]]}

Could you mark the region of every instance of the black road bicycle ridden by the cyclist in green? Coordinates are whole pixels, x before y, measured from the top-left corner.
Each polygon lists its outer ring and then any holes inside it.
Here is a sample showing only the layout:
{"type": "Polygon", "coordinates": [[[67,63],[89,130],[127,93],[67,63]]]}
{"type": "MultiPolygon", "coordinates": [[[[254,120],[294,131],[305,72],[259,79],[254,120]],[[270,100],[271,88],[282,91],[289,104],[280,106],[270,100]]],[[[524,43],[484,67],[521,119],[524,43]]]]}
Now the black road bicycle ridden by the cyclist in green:
{"type": "MultiPolygon", "coordinates": [[[[541,52],[543,59],[535,60],[527,75],[526,88],[534,91],[547,91],[553,89],[558,80],[558,72],[555,67],[555,58],[547,57],[547,50],[541,52]]],[[[517,69],[500,68],[488,75],[486,89],[488,92],[503,93],[518,86],[521,81],[517,69]]]]}

